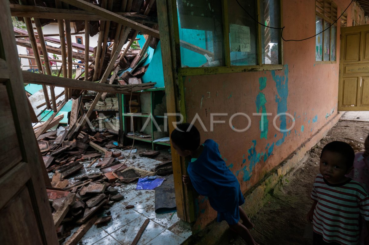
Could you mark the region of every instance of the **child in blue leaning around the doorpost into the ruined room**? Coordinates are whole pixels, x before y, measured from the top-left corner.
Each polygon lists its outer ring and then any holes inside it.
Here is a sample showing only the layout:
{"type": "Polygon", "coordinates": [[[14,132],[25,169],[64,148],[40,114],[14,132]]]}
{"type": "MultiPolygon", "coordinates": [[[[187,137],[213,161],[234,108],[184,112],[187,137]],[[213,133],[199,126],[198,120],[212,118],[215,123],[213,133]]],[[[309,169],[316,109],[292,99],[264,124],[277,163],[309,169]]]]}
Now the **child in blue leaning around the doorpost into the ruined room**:
{"type": "Polygon", "coordinates": [[[180,156],[191,157],[187,168],[189,175],[183,175],[183,183],[192,183],[200,195],[209,198],[211,207],[218,212],[217,222],[227,221],[231,230],[240,235],[248,245],[258,245],[249,232],[254,224],[240,207],[245,200],[239,182],[221,158],[218,144],[207,139],[200,145],[200,133],[189,123],[177,125],[170,138],[173,148],[180,156]],[[242,223],[239,222],[240,219],[242,223]]]}

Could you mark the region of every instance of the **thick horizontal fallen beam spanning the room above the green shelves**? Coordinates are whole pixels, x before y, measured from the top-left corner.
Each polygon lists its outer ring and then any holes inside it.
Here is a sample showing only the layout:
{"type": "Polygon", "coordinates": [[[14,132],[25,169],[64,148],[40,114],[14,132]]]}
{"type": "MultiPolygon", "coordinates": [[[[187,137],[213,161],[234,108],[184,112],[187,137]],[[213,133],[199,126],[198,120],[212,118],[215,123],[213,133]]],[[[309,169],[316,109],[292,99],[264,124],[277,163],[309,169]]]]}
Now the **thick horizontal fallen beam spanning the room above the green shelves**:
{"type": "Polygon", "coordinates": [[[130,94],[132,92],[150,89],[156,83],[141,83],[130,85],[115,85],[106,83],[95,83],[84,80],[75,80],[65,77],[49,76],[34,72],[22,71],[24,83],[44,84],[55,87],[67,87],[71,89],[92,90],[96,92],[108,92],[118,94],[130,94]]]}

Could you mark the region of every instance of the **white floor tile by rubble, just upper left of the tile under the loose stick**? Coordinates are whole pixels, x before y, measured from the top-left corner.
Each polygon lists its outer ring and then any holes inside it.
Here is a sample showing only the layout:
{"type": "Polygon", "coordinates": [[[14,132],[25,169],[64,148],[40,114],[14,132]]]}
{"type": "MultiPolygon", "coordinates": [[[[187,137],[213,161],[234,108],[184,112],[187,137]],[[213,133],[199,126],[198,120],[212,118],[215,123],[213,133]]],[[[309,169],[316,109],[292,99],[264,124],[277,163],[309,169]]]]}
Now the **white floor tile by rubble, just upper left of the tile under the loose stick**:
{"type": "Polygon", "coordinates": [[[112,216],[111,221],[108,223],[108,225],[101,227],[109,234],[140,216],[140,214],[133,209],[125,209],[125,206],[122,204],[111,209],[110,211],[112,216]]]}

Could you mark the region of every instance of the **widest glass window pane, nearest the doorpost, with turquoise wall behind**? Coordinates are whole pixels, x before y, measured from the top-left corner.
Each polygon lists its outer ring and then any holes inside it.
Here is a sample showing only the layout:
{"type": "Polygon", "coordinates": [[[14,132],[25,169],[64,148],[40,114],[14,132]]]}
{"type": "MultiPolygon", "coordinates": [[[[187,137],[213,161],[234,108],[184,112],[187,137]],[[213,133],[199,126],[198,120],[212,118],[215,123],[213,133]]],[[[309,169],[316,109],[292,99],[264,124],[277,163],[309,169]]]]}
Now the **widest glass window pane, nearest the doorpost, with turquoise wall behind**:
{"type": "Polygon", "coordinates": [[[182,67],[224,65],[221,0],[177,0],[182,67]]]}

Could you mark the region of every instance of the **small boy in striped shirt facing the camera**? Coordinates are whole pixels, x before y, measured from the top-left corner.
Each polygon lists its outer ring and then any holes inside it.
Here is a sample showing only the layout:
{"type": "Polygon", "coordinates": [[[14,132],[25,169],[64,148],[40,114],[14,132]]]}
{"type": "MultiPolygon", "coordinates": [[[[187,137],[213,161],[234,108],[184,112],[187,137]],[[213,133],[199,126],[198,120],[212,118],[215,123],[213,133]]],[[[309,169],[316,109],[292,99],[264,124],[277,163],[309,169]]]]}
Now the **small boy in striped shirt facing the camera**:
{"type": "Polygon", "coordinates": [[[369,221],[369,197],[359,182],[345,176],[354,156],[352,147],[341,141],[328,143],[321,152],[320,174],[311,192],[314,203],[307,214],[313,222],[314,245],[359,244],[359,217],[369,221]]]}

